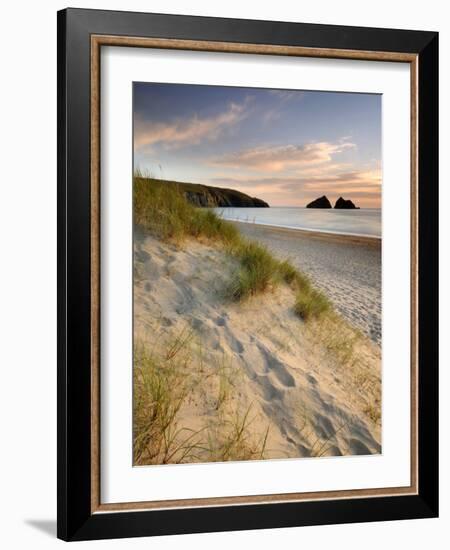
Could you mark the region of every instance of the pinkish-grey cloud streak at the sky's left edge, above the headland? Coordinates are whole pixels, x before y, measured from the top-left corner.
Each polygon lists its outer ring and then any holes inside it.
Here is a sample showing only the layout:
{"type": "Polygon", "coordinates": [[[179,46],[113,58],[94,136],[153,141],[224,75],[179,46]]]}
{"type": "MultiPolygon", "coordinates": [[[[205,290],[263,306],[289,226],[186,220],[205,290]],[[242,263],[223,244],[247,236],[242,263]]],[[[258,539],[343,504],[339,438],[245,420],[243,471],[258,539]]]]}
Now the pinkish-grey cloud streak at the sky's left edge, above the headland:
{"type": "Polygon", "coordinates": [[[230,103],[222,113],[213,117],[178,119],[171,123],[144,121],[138,116],[134,122],[134,145],[137,149],[162,145],[177,148],[198,144],[203,140],[214,140],[246,116],[245,105],[230,103]]]}

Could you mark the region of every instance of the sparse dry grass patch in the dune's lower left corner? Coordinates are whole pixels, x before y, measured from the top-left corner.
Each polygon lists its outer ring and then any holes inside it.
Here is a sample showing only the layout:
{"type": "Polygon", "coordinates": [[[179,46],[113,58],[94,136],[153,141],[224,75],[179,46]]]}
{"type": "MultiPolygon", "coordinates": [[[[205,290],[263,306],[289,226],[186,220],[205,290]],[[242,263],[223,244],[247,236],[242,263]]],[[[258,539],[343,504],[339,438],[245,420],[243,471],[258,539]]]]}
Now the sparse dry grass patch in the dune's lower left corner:
{"type": "MultiPolygon", "coordinates": [[[[217,403],[214,420],[197,427],[182,426],[182,408],[208,377],[201,376],[201,358],[191,346],[192,333],[183,332],[167,342],[161,355],[148,353],[136,343],[133,376],[133,455],[135,465],[224,462],[265,458],[269,427],[261,434],[252,426],[251,405],[244,411],[227,407],[230,379],[217,368],[217,403]],[[195,365],[200,372],[195,373],[195,365]]],[[[208,391],[204,389],[203,391],[208,391]]]]}

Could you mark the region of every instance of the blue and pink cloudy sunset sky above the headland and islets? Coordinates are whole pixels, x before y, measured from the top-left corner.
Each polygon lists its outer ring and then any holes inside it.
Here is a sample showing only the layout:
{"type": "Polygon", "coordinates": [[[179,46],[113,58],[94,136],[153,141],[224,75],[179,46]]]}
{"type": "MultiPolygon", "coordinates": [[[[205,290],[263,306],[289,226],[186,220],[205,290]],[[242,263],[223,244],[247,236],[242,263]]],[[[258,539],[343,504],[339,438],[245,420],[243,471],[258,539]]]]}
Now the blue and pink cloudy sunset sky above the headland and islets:
{"type": "Polygon", "coordinates": [[[381,207],[381,96],[133,84],[134,167],[270,206],[381,207]]]}

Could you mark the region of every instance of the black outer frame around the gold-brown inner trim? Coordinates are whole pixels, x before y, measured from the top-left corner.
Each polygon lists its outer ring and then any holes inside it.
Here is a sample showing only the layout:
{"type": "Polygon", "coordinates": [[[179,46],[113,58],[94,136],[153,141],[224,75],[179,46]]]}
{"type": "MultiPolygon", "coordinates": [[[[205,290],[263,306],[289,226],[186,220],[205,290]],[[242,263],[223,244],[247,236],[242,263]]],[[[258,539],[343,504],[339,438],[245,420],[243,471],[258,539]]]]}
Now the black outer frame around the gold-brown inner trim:
{"type": "Polygon", "coordinates": [[[88,540],[437,515],[438,34],[85,9],[58,12],[58,537],[88,540]],[[418,56],[417,494],[92,513],[92,35],[403,52],[418,56]]]}

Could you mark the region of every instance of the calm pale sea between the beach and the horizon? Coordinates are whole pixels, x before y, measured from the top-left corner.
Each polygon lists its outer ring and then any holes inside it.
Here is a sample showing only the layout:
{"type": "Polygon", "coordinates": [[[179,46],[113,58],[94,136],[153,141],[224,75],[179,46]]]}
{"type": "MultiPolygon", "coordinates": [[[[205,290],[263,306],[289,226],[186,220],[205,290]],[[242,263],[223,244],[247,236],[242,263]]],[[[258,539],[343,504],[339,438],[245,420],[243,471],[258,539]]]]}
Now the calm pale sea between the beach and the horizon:
{"type": "Polygon", "coordinates": [[[225,220],[381,238],[381,208],[335,210],[305,207],[215,208],[225,220]]]}

